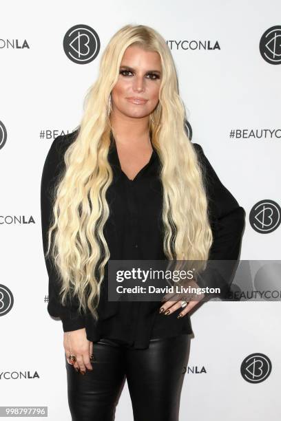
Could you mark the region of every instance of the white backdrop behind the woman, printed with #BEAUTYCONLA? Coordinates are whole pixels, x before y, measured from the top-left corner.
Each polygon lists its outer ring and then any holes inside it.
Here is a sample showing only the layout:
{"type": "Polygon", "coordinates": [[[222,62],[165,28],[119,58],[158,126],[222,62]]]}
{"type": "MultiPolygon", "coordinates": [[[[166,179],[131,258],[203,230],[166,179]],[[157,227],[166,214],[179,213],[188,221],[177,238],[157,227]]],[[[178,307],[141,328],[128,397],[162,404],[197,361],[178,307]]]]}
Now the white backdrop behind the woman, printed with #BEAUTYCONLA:
{"type": "MultiPolygon", "coordinates": [[[[44,302],[41,172],[53,138],[79,125],[101,52],[121,26],[149,25],[169,41],[192,141],[202,145],[247,213],[240,258],[280,259],[281,227],[262,234],[249,223],[260,200],[281,206],[280,17],[278,0],[2,4],[0,291],[9,288],[14,303],[6,313],[0,307],[0,406],[46,406],[50,420],[71,419],[62,325],[50,318],[44,302]],[[63,50],[65,33],[78,24],[89,25],[101,40],[100,53],[85,65],[63,50]],[[266,46],[269,63],[259,45],[276,25],[275,41],[266,46]],[[230,138],[231,129],[253,130],[253,136],[230,138]],[[41,138],[42,131],[50,131],[50,138],[41,138]]],[[[280,316],[279,301],[210,302],[191,316],[195,337],[180,420],[280,420],[280,316]],[[272,364],[269,377],[256,385],[240,374],[242,361],[253,353],[265,354],[272,364]]],[[[126,383],[116,421],[132,419],[126,383]]]]}

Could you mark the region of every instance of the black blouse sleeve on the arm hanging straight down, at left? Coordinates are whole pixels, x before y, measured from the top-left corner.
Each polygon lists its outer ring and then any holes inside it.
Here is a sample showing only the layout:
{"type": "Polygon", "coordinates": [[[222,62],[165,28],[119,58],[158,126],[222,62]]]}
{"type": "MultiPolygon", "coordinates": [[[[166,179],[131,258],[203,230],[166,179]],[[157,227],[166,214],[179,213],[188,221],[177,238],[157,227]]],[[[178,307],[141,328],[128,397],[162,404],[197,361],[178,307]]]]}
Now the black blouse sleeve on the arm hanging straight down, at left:
{"type": "Polygon", "coordinates": [[[64,136],[57,136],[54,139],[43,166],[41,177],[41,228],[45,266],[47,268],[49,278],[48,313],[50,316],[59,317],[63,323],[63,331],[70,332],[72,330],[78,330],[85,327],[85,314],[79,314],[79,303],[77,299],[72,298],[72,303],[67,303],[65,306],[60,303],[59,276],[50,255],[45,257],[45,253],[48,250],[48,228],[52,220],[52,193],[54,183],[64,166],[63,153],[65,148],[63,147],[63,139],[64,136]]]}

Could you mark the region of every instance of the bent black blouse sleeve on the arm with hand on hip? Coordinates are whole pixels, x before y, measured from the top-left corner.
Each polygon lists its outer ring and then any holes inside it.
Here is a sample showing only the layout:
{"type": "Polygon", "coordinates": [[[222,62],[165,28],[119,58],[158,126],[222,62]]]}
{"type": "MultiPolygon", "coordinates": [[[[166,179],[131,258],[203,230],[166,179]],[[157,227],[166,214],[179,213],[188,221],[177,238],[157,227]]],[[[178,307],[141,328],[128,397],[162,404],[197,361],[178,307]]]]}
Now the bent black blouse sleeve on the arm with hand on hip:
{"type": "MultiPolygon", "coordinates": [[[[202,147],[196,143],[194,147],[203,171],[214,237],[207,270],[202,272],[204,275],[197,283],[200,287],[220,288],[220,294],[216,296],[227,299],[238,264],[246,214],[244,208],[220,182],[202,147]]],[[[207,298],[214,296],[207,294],[207,298]]]]}

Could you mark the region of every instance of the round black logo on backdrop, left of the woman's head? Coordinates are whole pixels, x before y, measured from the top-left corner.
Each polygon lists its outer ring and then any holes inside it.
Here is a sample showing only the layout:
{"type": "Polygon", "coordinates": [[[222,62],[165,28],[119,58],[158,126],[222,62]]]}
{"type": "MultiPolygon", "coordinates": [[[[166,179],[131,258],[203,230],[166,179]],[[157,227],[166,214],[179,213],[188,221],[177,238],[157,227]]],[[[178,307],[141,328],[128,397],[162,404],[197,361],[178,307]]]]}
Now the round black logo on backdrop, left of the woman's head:
{"type": "Polygon", "coordinates": [[[63,50],[70,60],[77,64],[93,61],[101,48],[101,41],[93,28],[87,25],[75,25],[63,38],[63,50]]]}

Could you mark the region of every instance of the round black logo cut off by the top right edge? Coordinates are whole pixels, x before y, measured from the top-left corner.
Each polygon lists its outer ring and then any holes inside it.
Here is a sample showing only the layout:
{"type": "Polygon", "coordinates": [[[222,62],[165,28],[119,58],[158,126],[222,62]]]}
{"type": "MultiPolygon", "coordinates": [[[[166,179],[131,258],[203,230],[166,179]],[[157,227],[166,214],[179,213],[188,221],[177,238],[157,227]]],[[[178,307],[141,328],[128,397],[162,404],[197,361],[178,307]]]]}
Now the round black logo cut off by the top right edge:
{"type": "Polygon", "coordinates": [[[272,26],[260,39],[260,54],[270,64],[281,64],[281,26],[272,26]]]}

